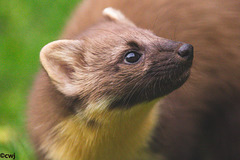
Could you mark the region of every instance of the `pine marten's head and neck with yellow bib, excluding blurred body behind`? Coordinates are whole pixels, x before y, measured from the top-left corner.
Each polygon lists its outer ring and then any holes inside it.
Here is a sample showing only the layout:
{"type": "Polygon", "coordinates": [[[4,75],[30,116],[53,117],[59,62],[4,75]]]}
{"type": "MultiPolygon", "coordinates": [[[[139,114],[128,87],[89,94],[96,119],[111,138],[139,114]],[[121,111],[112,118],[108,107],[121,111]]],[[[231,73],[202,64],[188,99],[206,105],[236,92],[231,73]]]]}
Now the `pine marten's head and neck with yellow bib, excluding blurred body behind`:
{"type": "Polygon", "coordinates": [[[41,50],[29,128],[42,159],[149,159],[154,104],[189,76],[192,45],[140,29],[113,8],[103,15],[41,50]]]}

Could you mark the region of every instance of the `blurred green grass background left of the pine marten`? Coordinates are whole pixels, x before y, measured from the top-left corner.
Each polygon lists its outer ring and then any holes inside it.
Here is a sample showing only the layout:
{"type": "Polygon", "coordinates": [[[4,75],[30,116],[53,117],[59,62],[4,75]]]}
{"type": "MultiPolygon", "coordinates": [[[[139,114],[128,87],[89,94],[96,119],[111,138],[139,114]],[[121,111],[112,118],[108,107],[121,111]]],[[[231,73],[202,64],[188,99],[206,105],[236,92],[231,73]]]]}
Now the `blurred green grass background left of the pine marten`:
{"type": "Polygon", "coordinates": [[[25,129],[39,52],[58,39],[79,0],[0,0],[0,153],[34,160],[25,129]]]}

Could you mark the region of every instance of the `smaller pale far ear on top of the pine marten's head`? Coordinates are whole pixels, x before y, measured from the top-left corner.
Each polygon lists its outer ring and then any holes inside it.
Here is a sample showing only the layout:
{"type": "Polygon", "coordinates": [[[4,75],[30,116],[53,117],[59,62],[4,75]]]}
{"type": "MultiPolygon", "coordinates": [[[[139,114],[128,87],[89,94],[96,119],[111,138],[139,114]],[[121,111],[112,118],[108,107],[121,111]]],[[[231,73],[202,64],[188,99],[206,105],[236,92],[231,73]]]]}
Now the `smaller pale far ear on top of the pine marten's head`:
{"type": "Polygon", "coordinates": [[[120,12],[119,10],[116,10],[114,8],[111,8],[111,7],[105,8],[103,10],[103,16],[111,21],[121,22],[121,23],[135,26],[135,24],[132,21],[130,21],[129,19],[127,19],[122,14],[122,12],[120,12]]]}

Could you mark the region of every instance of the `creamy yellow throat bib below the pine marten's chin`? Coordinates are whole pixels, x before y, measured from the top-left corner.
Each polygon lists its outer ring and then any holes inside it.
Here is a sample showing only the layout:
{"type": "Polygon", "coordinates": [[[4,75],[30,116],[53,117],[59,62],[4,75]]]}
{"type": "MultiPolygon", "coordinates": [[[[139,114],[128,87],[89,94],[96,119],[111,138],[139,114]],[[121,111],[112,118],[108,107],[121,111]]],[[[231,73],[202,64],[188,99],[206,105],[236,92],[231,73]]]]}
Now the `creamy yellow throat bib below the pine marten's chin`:
{"type": "Polygon", "coordinates": [[[134,159],[155,125],[155,102],[111,111],[106,110],[107,101],[90,104],[58,124],[43,148],[54,160],[134,159]]]}

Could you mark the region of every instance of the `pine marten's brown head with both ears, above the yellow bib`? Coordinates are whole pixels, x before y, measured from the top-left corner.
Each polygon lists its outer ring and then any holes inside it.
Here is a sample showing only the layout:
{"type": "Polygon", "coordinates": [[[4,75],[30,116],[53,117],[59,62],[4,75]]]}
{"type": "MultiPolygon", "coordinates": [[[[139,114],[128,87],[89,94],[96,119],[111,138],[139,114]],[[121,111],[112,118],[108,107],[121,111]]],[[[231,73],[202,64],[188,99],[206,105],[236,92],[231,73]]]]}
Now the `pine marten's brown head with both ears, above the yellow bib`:
{"type": "Polygon", "coordinates": [[[42,49],[42,66],[58,91],[86,103],[107,97],[112,108],[131,107],[164,96],[187,80],[190,44],[138,28],[112,8],[103,15],[104,20],[76,39],[42,49]]]}

